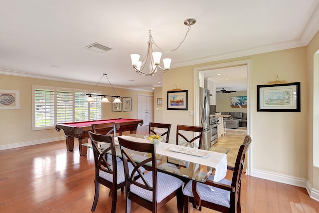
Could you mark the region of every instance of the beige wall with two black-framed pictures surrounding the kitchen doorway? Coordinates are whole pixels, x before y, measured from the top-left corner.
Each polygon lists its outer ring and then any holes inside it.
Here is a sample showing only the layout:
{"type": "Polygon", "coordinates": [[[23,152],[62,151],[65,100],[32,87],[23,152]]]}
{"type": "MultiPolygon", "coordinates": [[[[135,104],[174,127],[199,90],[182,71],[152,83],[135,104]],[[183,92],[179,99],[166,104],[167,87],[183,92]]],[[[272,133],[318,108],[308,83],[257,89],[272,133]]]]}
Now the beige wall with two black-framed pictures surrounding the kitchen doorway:
{"type": "MultiPolygon", "coordinates": [[[[251,137],[252,170],[280,174],[285,177],[307,179],[307,119],[308,79],[306,70],[306,47],[251,55],[236,59],[197,64],[170,69],[163,75],[163,93],[178,88],[187,89],[188,111],[163,109],[163,122],[171,123],[175,130],[177,123],[193,125],[193,68],[217,63],[251,59],[251,137]],[[257,112],[257,85],[280,80],[301,82],[301,112],[257,112]],[[181,77],[182,76],[182,77],[181,77]]],[[[171,134],[174,134],[172,131],[171,134]]]]}

